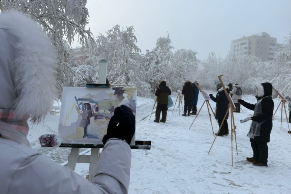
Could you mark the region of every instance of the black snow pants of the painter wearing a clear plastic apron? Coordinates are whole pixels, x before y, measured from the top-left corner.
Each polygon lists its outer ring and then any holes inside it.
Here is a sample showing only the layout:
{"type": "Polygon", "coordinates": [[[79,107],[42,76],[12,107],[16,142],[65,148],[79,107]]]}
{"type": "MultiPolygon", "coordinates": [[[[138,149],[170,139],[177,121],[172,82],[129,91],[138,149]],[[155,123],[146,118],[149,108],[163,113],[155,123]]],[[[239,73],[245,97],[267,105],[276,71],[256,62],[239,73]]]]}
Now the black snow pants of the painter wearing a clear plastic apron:
{"type": "Polygon", "coordinates": [[[267,164],[268,162],[268,145],[267,142],[258,142],[254,139],[249,139],[251,142],[251,146],[253,149],[253,158],[255,160],[259,160],[263,164],[267,164]]]}

